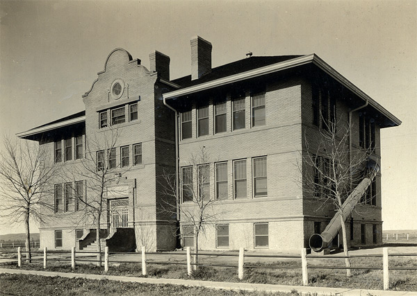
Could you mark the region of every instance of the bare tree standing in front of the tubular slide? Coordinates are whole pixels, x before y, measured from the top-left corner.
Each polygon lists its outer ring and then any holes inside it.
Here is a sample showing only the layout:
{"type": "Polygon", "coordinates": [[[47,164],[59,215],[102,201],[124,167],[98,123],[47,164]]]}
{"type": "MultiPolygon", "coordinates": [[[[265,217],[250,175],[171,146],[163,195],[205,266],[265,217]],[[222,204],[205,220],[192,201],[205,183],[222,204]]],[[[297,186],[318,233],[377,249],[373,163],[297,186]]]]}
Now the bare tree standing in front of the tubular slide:
{"type": "MultiPolygon", "coordinates": [[[[304,192],[313,200],[320,201],[318,210],[332,204],[340,214],[345,256],[348,256],[345,222],[349,215],[346,209],[353,209],[356,205],[347,200],[347,197],[352,193],[352,185],[359,184],[368,174],[368,157],[372,152],[371,148],[349,151],[350,128],[330,122],[320,129],[318,139],[305,137],[306,149],[302,152],[302,164],[299,164],[304,179],[304,192]]],[[[345,259],[345,265],[350,267],[348,258],[345,259]]],[[[347,269],[347,276],[350,275],[350,269],[347,269]]]]}

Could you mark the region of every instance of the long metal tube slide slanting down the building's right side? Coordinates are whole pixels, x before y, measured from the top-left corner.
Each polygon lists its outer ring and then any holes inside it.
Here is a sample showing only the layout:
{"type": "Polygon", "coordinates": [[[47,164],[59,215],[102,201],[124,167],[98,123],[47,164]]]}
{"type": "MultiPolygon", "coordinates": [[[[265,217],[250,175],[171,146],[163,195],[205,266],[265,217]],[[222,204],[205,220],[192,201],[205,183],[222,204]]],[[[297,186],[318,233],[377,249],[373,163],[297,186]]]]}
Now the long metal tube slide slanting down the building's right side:
{"type": "Polygon", "coordinates": [[[345,202],[343,202],[342,209],[339,209],[334,215],[330,223],[327,225],[324,232],[321,234],[313,234],[310,236],[310,247],[311,250],[315,252],[320,252],[325,248],[329,247],[332,243],[333,238],[336,237],[339,230],[342,227],[341,223],[341,213],[343,213],[343,222],[346,221],[347,217],[350,216],[354,207],[357,205],[363,194],[365,194],[366,189],[373,181],[377,173],[379,172],[379,165],[372,159],[368,160],[368,176],[363,178],[363,180],[353,189],[352,193],[347,196],[345,202]]]}

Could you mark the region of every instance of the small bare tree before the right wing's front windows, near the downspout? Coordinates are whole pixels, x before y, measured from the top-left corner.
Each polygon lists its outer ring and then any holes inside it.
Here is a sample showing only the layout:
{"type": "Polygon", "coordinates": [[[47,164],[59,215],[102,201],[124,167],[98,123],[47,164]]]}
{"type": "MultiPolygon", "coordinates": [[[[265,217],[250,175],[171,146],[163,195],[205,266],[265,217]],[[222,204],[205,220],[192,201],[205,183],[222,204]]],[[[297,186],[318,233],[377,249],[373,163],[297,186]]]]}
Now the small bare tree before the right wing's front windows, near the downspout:
{"type": "MultiPolygon", "coordinates": [[[[176,190],[175,175],[165,171],[162,176],[163,193],[171,197],[170,200],[178,201],[177,218],[181,217],[181,221],[193,229],[186,234],[193,234],[194,237],[196,254],[194,269],[197,268],[198,263],[200,235],[205,235],[208,227],[215,226],[220,215],[224,214],[223,211],[218,211],[218,207],[215,207],[221,201],[216,200],[215,195],[211,193],[210,178],[214,175],[213,172],[213,159],[207,149],[202,147],[197,154],[191,155],[188,166],[182,168],[180,190],[176,190]],[[182,193],[180,194],[179,191],[182,193]]],[[[175,208],[172,207],[172,203],[165,203],[163,211],[174,214],[175,208]]]]}

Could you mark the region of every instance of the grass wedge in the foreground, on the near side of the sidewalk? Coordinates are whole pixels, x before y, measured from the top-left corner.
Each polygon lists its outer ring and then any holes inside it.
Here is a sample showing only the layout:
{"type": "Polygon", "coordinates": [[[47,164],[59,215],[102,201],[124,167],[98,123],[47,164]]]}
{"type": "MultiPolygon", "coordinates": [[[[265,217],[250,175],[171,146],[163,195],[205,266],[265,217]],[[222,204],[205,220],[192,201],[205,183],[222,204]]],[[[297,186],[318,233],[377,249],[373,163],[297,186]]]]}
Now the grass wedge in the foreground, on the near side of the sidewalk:
{"type": "Polygon", "coordinates": [[[153,285],[126,283],[120,281],[67,279],[63,277],[42,277],[38,275],[0,275],[1,295],[143,295],[143,296],[285,296],[293,293],[264,293],[214,290],[175,285],[153,285]]]}

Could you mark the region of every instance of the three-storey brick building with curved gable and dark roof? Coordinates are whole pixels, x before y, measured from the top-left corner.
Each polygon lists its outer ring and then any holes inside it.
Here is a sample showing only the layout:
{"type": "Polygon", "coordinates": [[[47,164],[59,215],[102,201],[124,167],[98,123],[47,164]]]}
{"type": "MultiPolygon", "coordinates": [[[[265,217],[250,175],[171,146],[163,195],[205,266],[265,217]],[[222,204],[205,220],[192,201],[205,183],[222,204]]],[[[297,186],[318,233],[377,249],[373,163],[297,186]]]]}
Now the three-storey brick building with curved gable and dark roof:
{"type": "MultiPolygon", "coordinates": [[[[181,209],[195,207],[188,193],[195,189],[213,200],[217,214],[199,237],[202,249],[307,247],[334,209],[319,207],[297,182],[305,139],[314,142],[327,121],[350,125],[350,150],[372,146],[379,162],[380,129],[401,122],[317,55],[249,53],[212,68],[211,43],[195,37],[190,44],[191,75],[174,80],[167,55],[151,53],[148,70],[115,49],[83,95],[85,112],[17,136],[40,141],[51,165],[63,171],[77,171],[88,156],[95,170],[113,169],[101,220],[107,245],[193,245],[193,224],[181,209]],[[114,134],[115,143],[106,146],[114,134]],[[202,149],[210,157],[193,162],[202,149]],[[201,172],[208,177],[199,189],[201,172]],[[177,184],[172,195],[167,179],[177,184]]],[[[94,243],[95,221],[80,218],[83,201],[92,198],[88,182],[72,174],[51,185],[55,219],[41,225],[41,247],[94,243]]],[[[382,243],[380,188],[378,173],[368,189],[372,198],[357,206],[366,214],[349,217],[350,245],[382,243]]]]}

